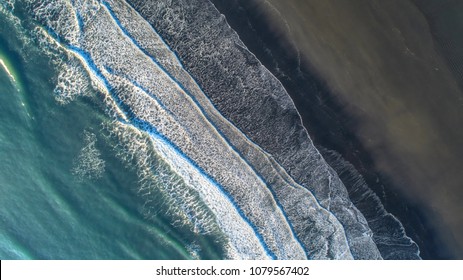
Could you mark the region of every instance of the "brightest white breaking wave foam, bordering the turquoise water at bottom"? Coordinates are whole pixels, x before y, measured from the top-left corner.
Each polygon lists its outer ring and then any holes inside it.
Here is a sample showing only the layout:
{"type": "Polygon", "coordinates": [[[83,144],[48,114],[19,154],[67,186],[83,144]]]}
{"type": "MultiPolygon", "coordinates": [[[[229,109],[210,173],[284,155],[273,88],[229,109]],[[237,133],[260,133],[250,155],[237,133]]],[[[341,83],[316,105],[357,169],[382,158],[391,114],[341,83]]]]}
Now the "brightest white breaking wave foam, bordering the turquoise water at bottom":
{"type": "MultiPolygon", "coordinates": [[[[249,224],[243,220],[235,206],[223,193],[211,184],[209,179],[185,162],[182,155],[172,149],[172,147],[162,141],[162,139],[156,136],[149,137],[131,125],[115,122],[110,129],[112,134],[119,139],[119,143],[123,145],[122,151],[124,151],[124,154],[119,154],[119,156],[125,158],[126,162],[137,162],[136,168],[139,172],[141,183],[140,193],[143,196],[149,199],[155,192],[179,193],[185,192],[185,187],[191,188],[201,196],[201,199],[212,213],[214,213],[215,219],[213,223],[218,224],[220,230],[225,233],[229,240],[227,245],[229,255],[233,255],[233,257],[237,259],[269,258],[265,249],[260,244],[260,241],[256,238],[255,232],[249,224]],[[150,149],[150,147],[152,149],[150,149]],[[153,159],[156,157],[160,157],[160,159],[154,160],[153,162],[153,159]],[[159,162],[161,159],[162,162],[171,165],[172,170],[156,170],[156,172],[153,173],[153,168],[162,166],[159,162]],[[162,184],[157,186],[153,185],[153,182],[159,181],[159,177],[170,177],[169,174],[172,174],[173,170],[182,178],[182,182],[172,181],[167,178],[167,180],[163,180],[162,184]],[[182,187],[182,189],[176,189],[179,187],[182,187]]],[[[184,198],[186,199],[176,201],[176,204],[173,206],[178,207],[179,204],[183,204],[183,207],[180,208],[185,209],[191,207],[188,205],[189,203],[197,204],[196,201],[188,200],[188,197],[184,198]]],[[[145,210],[150,211],[151,209],[145,210]]],[[[178,214],[178,212],[176,213],[178,214]]],[[[155,215],[155,213],[152,212],[148,212],[147,214],[155,215]]],[[[198,221],[201,220],[202,223],[205,222],[204,218],[201,216],[195,218],[198,221]]],[[[183,221],[191,222],[189,217],[185,215],[183,221]]],[[[180,223],[183,223],[183,221],[180,221],[180,223]]],[[[209,228],[213,228],[213,226],[210,225],[212,224],[211,221],[207,221],[207,224],[209,224],[209,228]]]]}

